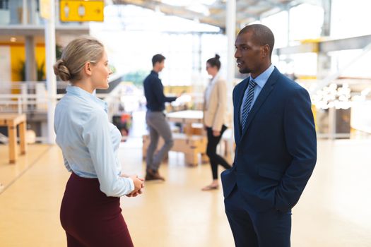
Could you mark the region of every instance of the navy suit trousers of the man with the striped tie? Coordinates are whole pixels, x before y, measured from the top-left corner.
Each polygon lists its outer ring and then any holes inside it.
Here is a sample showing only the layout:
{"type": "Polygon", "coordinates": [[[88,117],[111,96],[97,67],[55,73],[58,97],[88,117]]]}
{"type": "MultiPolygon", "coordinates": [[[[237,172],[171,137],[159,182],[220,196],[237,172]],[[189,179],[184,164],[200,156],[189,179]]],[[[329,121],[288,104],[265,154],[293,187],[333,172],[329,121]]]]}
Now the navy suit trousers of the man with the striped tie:
{"type": "Polygon", "coordinates": [[[254,212],[237,186],[224,203],[236,247],[290,247],[291,211],[254,212]]]}

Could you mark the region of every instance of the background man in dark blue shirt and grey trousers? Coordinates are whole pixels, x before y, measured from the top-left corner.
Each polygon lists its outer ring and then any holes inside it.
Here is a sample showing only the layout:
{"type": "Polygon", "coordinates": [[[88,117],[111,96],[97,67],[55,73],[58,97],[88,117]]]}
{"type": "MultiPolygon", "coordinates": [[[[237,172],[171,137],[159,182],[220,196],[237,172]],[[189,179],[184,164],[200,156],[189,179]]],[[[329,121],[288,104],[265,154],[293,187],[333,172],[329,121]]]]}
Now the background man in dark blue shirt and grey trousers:
{"type": "Polygon", "coordinates": [[[173,145],[172,133],[169,123],[167,123],[165,114],[165,102],[177,100],[177,97],[166,97],[163,93],[163,83],[158,78],[158,73],[165,66],[165,56],[155,54],[152,58],[153,70],[143,82],[144,95],[147,100],[146,122],[149,128],[151,143],[148,146],[146,156],[146,180],[163,180],[163,176],[158,173],[163,157],[173,145]],[[158,145],[158,138],[161,136],[165,143],[163,147],[154,155],[158,145]]]}

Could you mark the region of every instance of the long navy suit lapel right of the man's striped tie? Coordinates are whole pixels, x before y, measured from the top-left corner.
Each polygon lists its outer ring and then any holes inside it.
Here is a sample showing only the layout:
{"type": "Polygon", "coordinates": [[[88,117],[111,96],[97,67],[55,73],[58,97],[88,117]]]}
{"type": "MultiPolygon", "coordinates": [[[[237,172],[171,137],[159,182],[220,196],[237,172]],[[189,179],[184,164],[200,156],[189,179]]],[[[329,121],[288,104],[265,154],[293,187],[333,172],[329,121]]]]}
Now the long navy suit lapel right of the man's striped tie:
{"type": "Polygon", "coordinates": [[[261,105],[266,101],[266,98],[269,96],[269,94],[273,90],[274,85],[276,84],[277,77],[278,77],[278,70],[277,68],[274,68],[273,72],[271,73],[271,76],[269,76],[268,80],[266,81],[266,84],[261,89],[261,92],[259,93],[257,100],[254,102],[254,105],[252,106],[252,109],[249,112],[249,116],[247,116],[246,128],[242,132],[240,139],[242,139],[242,137],[246,134],[250,123],[254,119],[254,116],[257,114],[261,105]]]}

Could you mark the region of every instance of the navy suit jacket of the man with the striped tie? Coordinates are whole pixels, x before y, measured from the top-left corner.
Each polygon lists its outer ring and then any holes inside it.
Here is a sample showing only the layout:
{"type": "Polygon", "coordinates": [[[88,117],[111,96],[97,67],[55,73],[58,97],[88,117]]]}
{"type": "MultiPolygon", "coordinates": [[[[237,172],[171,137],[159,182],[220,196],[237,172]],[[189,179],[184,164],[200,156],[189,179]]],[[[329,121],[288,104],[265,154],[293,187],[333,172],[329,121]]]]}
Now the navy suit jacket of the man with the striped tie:
{"type": "Polygon", "coordinates": [[[237,186],[259,212],[290,210],[300,198],[317,160],[310,96],[277,68],[262,88],[242,133],[240,108],[249,78],[233,90],[235,160],[221,175],[225,198],[237,186]]]}

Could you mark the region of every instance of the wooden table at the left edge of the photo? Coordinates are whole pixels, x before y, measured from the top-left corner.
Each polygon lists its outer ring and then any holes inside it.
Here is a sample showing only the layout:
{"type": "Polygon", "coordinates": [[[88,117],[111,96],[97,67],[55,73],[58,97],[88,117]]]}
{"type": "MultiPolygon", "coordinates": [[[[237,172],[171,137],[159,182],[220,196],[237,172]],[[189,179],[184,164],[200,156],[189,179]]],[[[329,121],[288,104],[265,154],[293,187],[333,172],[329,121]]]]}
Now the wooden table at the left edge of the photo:
{"type": "Polygon", "coordinates": [[[25,114],[0,114],[0,126],[8,127],[9,143],[9,162],[16,163],[17,160],[17,126],[19,126],[20,154],[26,152],[25,131],[26,117],[25,114]]]}

